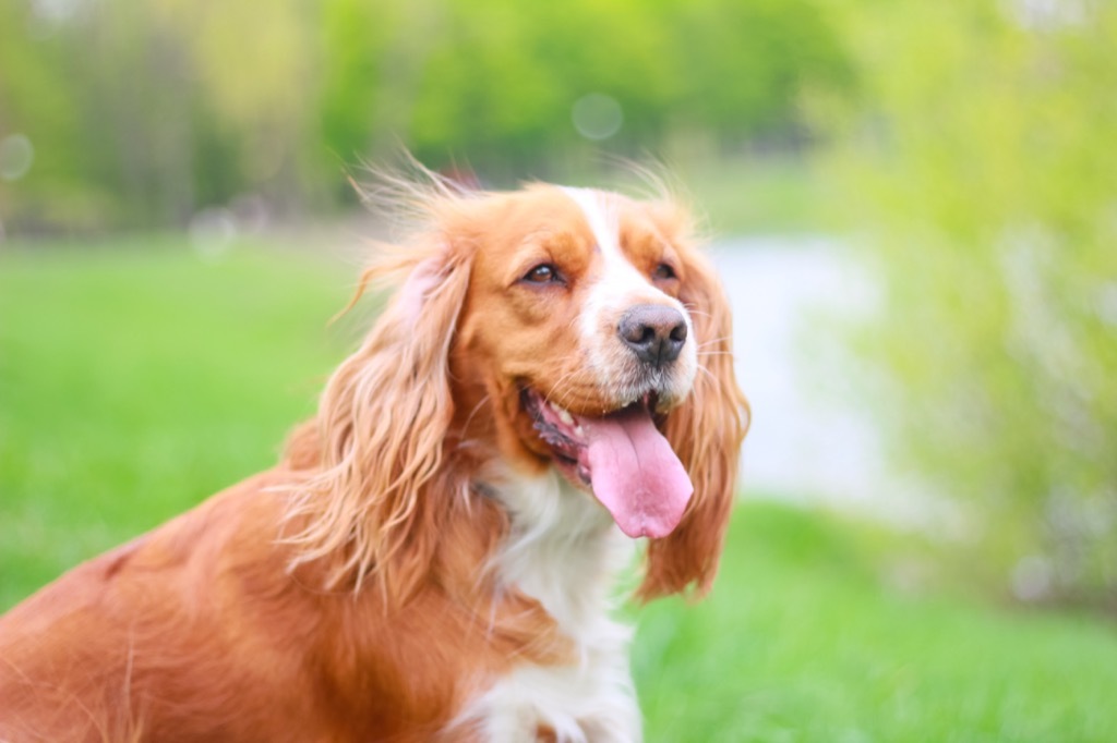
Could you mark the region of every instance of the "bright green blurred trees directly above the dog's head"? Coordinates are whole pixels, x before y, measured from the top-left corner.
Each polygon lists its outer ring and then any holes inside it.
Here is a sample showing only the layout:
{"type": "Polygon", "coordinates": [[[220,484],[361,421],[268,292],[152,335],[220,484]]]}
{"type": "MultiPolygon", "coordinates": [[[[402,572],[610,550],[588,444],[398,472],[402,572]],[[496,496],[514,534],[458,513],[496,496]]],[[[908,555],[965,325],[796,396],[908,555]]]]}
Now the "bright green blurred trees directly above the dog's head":
{"type": "MultiPolygon", "coordinates": [[[[431,16],[429,7],[420,12],[431,16]]],[[[523,173],[591,146],[574,104],[603,94],[623,124],[609,147],[657,149],[678,132],[724,146],[801,119],[804,84],[846,86],[849,68],[809,0],[575,0],[524,4],[446,0],[422,55],[410,126],[421,158],[465,155],[523,173]]]]}

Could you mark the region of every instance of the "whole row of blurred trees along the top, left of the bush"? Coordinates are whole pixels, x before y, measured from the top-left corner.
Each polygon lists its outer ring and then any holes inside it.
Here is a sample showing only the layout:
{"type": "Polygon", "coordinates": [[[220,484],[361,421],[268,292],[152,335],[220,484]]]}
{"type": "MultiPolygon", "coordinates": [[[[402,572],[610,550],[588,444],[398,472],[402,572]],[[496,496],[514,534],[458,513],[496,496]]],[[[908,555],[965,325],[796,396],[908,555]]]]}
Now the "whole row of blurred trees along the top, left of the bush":
{"type": "Polygon", "coordinates": [[[0,139],[35,160],[0,180],[0,219],[184,224],[246,193],[321,210],[401,145],[500,181],[801,138],[803,90],[850,84],[817,2],[6,2],[0,139]],[[614,134],[572,122],[591,94],[614,134]]]}

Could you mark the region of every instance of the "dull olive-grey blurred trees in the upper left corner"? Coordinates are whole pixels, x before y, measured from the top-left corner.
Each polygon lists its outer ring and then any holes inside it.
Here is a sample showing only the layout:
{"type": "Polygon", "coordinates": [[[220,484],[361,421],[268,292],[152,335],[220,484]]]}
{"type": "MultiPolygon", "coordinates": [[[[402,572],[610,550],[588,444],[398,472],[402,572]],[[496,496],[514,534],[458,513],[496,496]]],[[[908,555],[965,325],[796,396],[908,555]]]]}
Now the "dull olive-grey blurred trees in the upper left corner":
{"type": "Polygon", "coordinates": [[[6,3],[4,131],[36,147],[6,220],[71,229],[184,224],[261,191],[298,204],[314,120],[306,3],[6,3]],[[57,8],[58,11],[49,9],[57,8]]]}

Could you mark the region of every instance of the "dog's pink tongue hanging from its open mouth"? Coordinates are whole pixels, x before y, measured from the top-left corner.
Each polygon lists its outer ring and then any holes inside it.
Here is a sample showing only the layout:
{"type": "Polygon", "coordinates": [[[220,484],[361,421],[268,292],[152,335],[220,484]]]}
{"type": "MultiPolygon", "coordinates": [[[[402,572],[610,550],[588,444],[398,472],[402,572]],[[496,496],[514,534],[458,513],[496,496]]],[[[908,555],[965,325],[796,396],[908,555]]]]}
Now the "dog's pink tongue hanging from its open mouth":
{"type": "Polygon", "coordinates": [[[593,494],[629,537],[666,537],[682,518],[694,485],[651,414],[633,405],[582,418],[593,494]]]}

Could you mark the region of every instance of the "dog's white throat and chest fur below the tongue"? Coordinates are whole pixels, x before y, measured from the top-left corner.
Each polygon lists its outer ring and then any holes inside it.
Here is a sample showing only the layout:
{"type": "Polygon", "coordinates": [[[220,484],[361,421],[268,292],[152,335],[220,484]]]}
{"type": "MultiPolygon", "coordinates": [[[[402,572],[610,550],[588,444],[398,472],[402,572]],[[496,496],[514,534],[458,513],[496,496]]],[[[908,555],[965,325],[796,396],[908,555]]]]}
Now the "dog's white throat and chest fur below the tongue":
{"type": "Polygon", "coordinates": [[[639,741],[631,630],[610,618],[612,582],[632,542],[592,495],[556,473],[506,482],[498,496],[513,525],[495,569],[503,585],[535,598],[555,618],[579,662],[521,666],[476,698],[462,722],[477,724],[491,743],[532,741],[541,725],[561,743],[639,741]]]}

